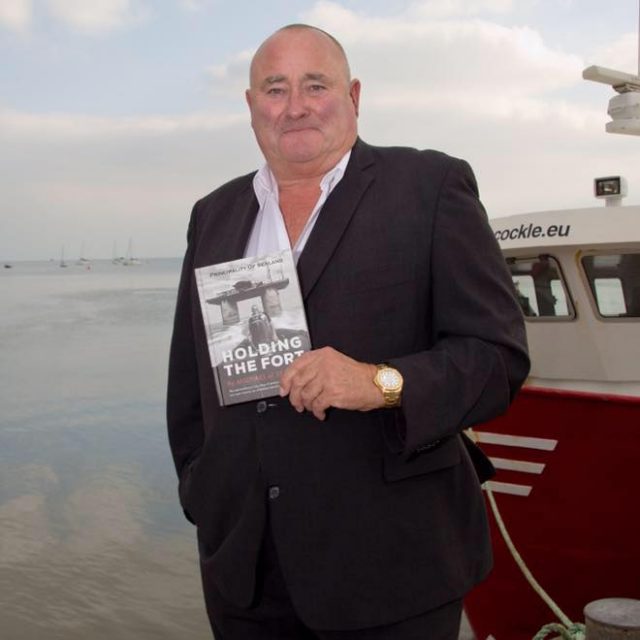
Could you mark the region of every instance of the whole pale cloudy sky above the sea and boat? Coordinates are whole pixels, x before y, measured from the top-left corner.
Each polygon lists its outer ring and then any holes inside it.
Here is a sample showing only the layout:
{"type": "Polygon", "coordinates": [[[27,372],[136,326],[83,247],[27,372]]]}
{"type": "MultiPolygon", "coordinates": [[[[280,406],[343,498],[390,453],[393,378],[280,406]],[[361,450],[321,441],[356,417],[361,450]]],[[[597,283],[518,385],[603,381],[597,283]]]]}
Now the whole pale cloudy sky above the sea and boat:
{"type": "Polygon", "coordinates": [[[640,138],[605,133],[638,73],[638,0],[0,0],[0,261],[180,256],[193,203],[262,158],[244,100],[275,29],[343,44],[359,131],[468,160],[490,217],[600,206],[640,138]]]}

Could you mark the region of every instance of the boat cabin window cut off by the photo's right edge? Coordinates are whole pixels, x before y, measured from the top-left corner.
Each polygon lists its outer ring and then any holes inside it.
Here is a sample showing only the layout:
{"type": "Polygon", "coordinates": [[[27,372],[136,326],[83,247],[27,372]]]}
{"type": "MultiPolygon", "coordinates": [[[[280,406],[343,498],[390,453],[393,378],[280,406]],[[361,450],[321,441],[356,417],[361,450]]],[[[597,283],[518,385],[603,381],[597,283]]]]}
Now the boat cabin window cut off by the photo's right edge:
{"type": "Polygon", "coordinates": [[[582,266],[601,316],[640,317],[640,253],[584,256],[582,266]]]}

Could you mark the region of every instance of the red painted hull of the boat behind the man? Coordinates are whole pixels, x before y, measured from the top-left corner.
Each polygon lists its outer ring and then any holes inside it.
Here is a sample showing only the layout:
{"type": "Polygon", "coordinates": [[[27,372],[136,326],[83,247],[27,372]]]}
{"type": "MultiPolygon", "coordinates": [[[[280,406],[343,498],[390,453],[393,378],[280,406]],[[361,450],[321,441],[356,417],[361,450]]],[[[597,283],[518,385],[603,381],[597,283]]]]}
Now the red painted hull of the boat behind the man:
{"type": "MultiPolygon", "coordinates": [[[[492,458],[544,465],[537,474],[499,469],[495,481],[530,493],[495,498],[516,548],[562,611],[581,622],[593,600],[640,598],[640,398],[525,388],[507,415],[477,431],[557,441],[553,450],[481,447],[492,458]]],[[[489,518],[494,570],[468,596],[467,615],[478,640],[531,640],[555,616],[489,518]]]]}

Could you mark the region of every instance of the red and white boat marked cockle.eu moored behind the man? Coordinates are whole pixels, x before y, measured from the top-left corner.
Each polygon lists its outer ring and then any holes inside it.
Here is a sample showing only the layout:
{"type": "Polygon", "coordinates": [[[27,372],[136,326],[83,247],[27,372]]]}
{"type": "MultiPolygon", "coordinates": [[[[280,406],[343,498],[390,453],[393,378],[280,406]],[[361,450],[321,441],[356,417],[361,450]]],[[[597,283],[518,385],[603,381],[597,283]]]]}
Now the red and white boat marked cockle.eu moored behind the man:
{"type": "Polygon", "coordinates": [[[621,185],[596,180],[613,206],[491,220],[532,367],[509,411],[471,434],[497,469],[484,485],[494,570],[465,601],[478,640],[531,640],[594,600],[640,599],[640,206],[620,205],[621,185]]]}

